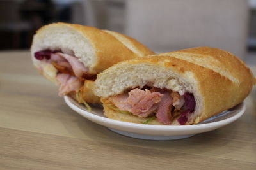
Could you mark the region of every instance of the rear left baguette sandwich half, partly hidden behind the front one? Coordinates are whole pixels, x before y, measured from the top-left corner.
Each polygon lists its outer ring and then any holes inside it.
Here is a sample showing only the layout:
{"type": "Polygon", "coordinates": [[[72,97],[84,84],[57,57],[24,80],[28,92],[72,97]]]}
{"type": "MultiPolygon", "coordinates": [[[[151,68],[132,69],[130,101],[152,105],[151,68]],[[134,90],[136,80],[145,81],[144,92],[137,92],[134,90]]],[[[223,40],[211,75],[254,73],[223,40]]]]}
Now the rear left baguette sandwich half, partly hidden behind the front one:
{"type": "Polygon", "coordinates": [[[97,74],[122,60],[154,54],[135,39],[117,32],[77,24],[54,23],[33,37],[33,64],[59,86],[59,96],[79,103],[100,103],[92,92],[97,74]]]}

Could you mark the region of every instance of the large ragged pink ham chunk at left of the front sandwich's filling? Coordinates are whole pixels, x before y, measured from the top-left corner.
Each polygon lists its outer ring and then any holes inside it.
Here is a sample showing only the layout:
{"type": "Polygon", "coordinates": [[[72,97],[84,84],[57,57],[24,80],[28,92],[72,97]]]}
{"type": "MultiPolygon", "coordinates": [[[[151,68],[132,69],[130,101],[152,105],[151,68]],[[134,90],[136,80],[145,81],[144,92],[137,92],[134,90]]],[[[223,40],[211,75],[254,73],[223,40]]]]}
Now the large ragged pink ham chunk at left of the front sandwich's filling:
{"type": "Polygon", "coordinates": [[[109,98],[120,110],[129,111],[138,117],[148,117],[157,109],[157,103],[162,95],[159,92],[131,90],[129,94],[120,94],[109,98]]]}

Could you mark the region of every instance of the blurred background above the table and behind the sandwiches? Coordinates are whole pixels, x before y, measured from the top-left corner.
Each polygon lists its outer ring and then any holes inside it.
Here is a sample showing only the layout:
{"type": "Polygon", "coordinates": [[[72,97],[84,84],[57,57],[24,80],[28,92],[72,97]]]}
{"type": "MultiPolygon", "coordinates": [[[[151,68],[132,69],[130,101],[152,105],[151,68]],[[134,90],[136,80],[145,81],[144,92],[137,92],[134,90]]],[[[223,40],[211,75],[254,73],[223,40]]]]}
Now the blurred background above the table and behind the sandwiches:
{"type": "Polygon", "coordinates": [[[195,46],[256,64],[256,0],[0,0],[0,50],[29,49],[42,25],[69,22],[127,34],[155,52],[195,46]]]}

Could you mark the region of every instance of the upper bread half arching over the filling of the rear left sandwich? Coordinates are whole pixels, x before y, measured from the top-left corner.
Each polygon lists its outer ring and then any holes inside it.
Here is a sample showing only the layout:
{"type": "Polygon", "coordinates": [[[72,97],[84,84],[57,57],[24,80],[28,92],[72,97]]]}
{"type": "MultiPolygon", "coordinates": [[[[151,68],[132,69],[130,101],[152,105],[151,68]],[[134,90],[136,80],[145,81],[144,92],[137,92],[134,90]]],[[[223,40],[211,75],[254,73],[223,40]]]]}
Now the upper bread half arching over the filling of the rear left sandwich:
{"type": "MultiPolygon", "coordinates": [[[[33,38],[33,44],[31,46],[31,53],[33,56],[33,53],[35,53],[36,51],[45,50],[45,48],[54,48],[52,46],[48,46],[49,42],[47,41],[57,39],[56,45],[53,46],[57,46],[57,48],[59,48],[58,50],[60,50],[62,47],[68,48],[68,50],[73,51],[76,57],[78,57],[81,62],[84,62],[85,66],[89,67],[89,73],[92,74],[100,73],[104,69],[107,69],[108,67],[113,66],[113,64],[116,64],[117,62],[120,62],[122,60],[129,60],[136,57],[154,54],[154,52],[149,50],[146,46],[142,45],[135,39],[124,36],[122,34],[118,34],[116,32],[109,32],[112,31],[103,31],[95,27],[83,26],[78,24],[67,24],[62,22],[45,25],[44,27],[36,31],[36,34],[33,38]],[[51,33],[51,31],[63,31],[63,34],[51,38],[51,36],[54,36],[49,34],[51,33]],[[85,53],[83,53],[79,49],[74,48],[72,45],[68,45],[69,42],[67,41],[60,42],[60,45],[58,43],[58,39],[61,39],[61,36],[65,36],[65,34],[68,34],[68,32],[72,32],[72,34],[77,35],[77,45],[79,45],[81,40],[86,40],[86,43],[88,43],[87,46],[81,46],[81,48],[87,47],[89,49],[86,49],[85,53]],[[118,40],[116,36],[113,36],[113,34],[118,34],[119,36],[122,36],[122,38],[126,41],[118,40]],[[136,48],[136,50],[132,51],[127,46],[127,42],[134,45],[134,48],[136,48]],[[65,43],[67,44],[65,45],[65,43]],[[86,59],[83,59],[85,57],[88,59],[92,59],[92,62],[86,62],[86,59]]],[[[35,61],[36,60],[33,59],[34,63],[35,61]]]]}

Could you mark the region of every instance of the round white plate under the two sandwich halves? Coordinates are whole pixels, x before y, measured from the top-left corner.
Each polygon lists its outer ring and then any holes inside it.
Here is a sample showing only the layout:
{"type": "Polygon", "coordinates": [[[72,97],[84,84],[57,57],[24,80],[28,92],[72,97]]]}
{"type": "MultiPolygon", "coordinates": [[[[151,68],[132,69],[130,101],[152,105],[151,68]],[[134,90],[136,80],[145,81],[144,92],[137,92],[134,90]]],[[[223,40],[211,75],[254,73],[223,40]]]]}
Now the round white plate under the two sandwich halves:
{"type": "Polygon", "coordinates": [[[96,124],[104,125],[118,134],[150,140],[182,139],[198,133],[212,131],[234,122],[237,118],[241,117],[245,111],[245,105],[241,103],[230,110],[208,118],[204,120],[204,122],[196,125],[145,125],[106,118],[103,115],[103,110],[100,105],[93,105],[90,113],[83,104],[77,103],[71,97],[64,96],[64,99],[72,110],[88,118],[88,120],[92,120],[92,122],[96,124]]]}

